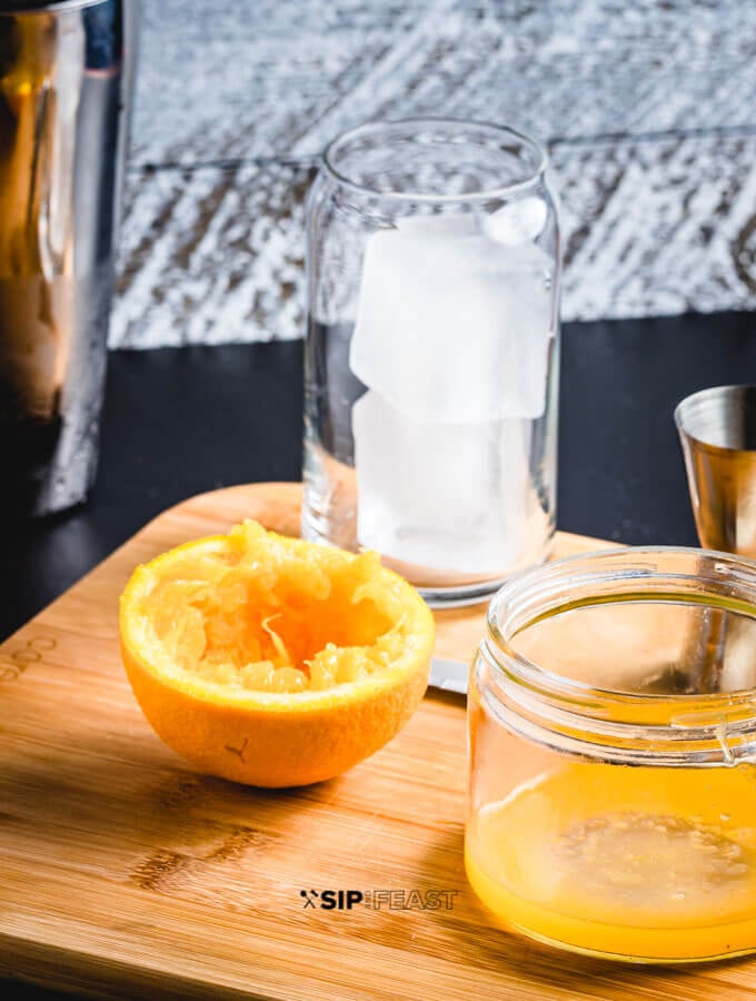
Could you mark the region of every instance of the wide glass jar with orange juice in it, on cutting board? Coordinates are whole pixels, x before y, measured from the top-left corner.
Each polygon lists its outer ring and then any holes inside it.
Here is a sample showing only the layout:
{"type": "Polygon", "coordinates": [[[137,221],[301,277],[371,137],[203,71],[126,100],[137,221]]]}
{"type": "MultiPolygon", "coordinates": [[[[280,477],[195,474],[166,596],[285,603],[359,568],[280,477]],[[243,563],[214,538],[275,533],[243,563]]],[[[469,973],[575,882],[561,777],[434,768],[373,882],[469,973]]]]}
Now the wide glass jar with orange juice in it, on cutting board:
{"type": "Polygon", "coordinates": [[[756,564],[619,548],[511,578],[468,696],[470,883],[575,952],[756,950],[756,564]]]}

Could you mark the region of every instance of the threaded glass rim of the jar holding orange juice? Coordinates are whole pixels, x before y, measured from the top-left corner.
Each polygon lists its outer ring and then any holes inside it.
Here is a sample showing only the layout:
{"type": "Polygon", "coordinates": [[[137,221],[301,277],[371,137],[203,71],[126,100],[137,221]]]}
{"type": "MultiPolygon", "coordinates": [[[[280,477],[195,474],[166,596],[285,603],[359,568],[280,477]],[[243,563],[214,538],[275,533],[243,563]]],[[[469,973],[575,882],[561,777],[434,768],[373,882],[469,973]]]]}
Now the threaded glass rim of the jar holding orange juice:
{"type": "Polygon", "coordinates": [[[756,620],[756,562],[730,553],[682,546],[617,546],[568,556],[513,575],[499,588],[487,613],[487,637],[480,655],[497,701],[515,725],[538,740],[569,743],[577,753],[637,761],[686,764],[754,760],[756,688],[733,692],[657,693],[600,687],[549,671],[523,655],[514,637],[535,622],[576,607],[607,602],[675,602],[688,594],[692,605],[715,606],[727,599],[730,611],[756,620]],[[654,561],[695,562],[709,574],[654,568],[654,561]],[[644,565],[645,561],[645,565],[644,565]],[[719,576],[716,576],[716,574],[719,576]],[[644,587],[644,582],[646,586],[644,587]],[[666,583],[665,583],[666,582],[666,583]],[[685,592],[685,583],[689,587],[685,592]],[[704,584],[702,594],[694,584],[704,584]],[[603,601],[600,585],[608,585],[603,601]],[[656,584],[656,587],[654,586],[656,584]],[[665,586],[667,589],[665,589],[665,586]],[[581,589],[580,604],[565,595],[581,589]],[[623,589],[623,587],[625,589],[623,589]],[[699,594],[698,599],[695,598],[699,594]],[[590,602],[590,596],[597,598],[590,602]],[[587,598],[587,599],[585,599],[587,598]]]}

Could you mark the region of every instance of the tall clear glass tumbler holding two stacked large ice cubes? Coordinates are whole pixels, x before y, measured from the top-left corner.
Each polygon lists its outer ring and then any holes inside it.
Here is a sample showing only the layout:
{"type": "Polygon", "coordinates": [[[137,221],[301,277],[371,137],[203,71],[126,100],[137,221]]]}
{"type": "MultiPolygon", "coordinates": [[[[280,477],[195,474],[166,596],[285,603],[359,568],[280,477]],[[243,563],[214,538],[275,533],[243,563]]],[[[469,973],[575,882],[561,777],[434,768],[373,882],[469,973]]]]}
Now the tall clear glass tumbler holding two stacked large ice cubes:
{"type": "Polygon", "coordinates": [[[555,527],[559,227],[507,128],[362,126],[307,206],[302,535],[434,605],[490,596],[555,527]]]}

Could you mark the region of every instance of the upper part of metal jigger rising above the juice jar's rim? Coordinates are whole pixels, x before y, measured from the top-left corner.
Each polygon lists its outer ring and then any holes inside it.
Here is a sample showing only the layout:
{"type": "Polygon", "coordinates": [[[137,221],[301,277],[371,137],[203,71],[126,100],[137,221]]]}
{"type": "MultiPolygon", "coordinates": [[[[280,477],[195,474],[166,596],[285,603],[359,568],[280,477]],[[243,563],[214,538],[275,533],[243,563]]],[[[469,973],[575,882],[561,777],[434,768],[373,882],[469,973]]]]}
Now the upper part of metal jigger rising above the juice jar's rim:
{"type": "Polygon", "coordinates": [[[702,546],[756,558],[756,386],[716,386],[675,409],[702,546]]]}

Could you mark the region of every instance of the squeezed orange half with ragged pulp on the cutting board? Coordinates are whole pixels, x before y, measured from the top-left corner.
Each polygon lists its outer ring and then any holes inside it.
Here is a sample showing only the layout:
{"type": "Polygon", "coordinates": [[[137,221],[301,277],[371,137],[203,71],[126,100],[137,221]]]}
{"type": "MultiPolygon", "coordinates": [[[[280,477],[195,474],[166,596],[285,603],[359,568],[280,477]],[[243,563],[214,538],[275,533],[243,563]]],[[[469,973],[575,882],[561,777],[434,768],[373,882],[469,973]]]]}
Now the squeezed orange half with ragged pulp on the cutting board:
{"type": "Polygon", "coordinates": [[[138,567],[120,601],[133,693],[199,770],[260,786],[330,779],[422,698],[435,622],[377,555],[255,522],[138,567]]]}

